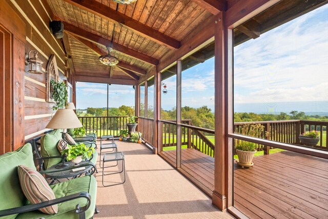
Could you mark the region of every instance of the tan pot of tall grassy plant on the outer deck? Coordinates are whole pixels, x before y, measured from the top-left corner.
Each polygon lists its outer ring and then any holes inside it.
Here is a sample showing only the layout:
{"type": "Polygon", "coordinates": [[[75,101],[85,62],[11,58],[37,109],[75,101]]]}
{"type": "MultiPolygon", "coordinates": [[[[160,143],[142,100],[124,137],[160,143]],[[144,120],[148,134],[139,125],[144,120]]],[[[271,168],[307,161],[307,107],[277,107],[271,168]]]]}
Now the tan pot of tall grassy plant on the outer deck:
{"type": "MultiPolygon", "coordinates": [[[[264,126],[261,124],[252,124],[252,125],[244,125],[236,130],[237,133],[242,135],[247,135],[251,137],[261,137],[264,131],[264,126]]],[[[256,153],[256,149],[258,148],[258,144],[235,140],[235,148],[238,156],[238,165],[241,167],[251,167],[253,166],[253,157],[256,153]]]]}

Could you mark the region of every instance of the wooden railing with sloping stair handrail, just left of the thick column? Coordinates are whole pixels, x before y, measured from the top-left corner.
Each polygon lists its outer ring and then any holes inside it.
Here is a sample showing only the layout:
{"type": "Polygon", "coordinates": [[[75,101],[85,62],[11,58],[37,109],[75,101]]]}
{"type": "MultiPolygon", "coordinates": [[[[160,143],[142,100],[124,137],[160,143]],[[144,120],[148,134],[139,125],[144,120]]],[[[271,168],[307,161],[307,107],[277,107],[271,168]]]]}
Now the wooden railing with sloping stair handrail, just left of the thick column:
{"type": "MultiPolygon", "coordinates": [[[[173,121],[163,120],[160,121],[160,124],[163,133],[162,147],[176,146],[177,124],[173,121]]],[[[193,148],[204,154],[214,156],[214,144],[204,134],[211,134],[214,139],[214,130],[193,126],[191,120],[182,120],[179,125],[181,126],[181,146],[187,146],[187,148],[193,148]]]]}

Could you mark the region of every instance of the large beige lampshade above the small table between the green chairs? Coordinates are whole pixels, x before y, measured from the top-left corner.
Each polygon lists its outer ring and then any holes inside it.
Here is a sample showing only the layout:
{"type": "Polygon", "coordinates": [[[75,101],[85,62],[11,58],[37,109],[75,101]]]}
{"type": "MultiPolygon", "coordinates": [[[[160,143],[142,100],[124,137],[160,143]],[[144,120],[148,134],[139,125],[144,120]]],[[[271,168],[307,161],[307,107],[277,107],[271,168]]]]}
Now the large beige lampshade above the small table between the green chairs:
{"type": "Polygon", "coordinates": [[[75,112],[71,109],[58,109],[46,128],[72,129],[82,127],[75,112]]]}

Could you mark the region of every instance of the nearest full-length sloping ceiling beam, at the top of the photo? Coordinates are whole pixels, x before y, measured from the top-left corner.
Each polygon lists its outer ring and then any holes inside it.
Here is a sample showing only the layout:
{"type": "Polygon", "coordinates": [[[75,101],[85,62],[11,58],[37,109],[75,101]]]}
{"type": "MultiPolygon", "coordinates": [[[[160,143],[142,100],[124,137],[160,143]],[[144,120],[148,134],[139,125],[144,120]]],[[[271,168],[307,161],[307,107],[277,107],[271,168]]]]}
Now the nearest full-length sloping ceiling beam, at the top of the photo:
{"type": "Polygon", "coordinates": [[[141,22],[136,21],[132,17],[119,13],[116,10],[101,4],[95,0],[80,1],[80,0],[64,0],[72,5],[84,9],[90,13],[96,14],[100,17],[108,19],[114,24],[124,25],[128,29],[137,32],[138,34],[151,38],[152,41],[165,45],[171,49],[180,48],[180,42],[176,39],[165,35],[141,22]]]}

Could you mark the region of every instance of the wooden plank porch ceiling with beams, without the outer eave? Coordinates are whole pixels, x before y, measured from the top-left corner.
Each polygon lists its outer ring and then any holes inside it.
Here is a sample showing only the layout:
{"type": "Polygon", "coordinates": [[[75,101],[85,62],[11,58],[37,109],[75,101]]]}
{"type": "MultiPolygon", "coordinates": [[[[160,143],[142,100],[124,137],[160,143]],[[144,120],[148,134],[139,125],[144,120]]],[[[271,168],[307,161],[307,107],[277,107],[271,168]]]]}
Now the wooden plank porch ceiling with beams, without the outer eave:
{"type": "Polygon", "coordinates": [[[111,0],[47,1],[54,19],[64,22],[76,75],[132,80],[153,70],[193,29],[227,7],[190,0],[138,0],[130,5],[111,0]],[[106,46],[114,49],[120,62],[112,70],[98,61],[99,55],[107,54],[106,46]]]}

